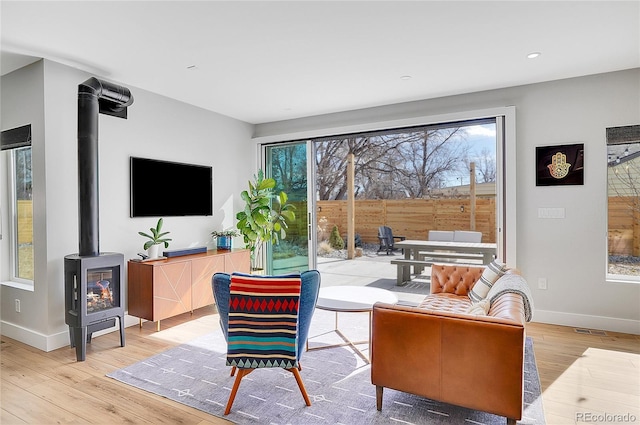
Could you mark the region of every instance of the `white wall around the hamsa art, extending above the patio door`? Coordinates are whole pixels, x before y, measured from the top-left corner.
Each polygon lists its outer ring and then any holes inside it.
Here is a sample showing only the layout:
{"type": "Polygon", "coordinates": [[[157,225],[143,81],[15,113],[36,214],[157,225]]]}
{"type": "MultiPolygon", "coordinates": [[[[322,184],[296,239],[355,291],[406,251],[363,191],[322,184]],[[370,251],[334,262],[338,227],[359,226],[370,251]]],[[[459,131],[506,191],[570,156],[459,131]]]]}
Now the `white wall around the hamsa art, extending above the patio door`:
{"type": "Polygon", "coordinates": [[[260,124],[254,137],[310,137],[339,128],[379,128],[386,121],[515,106],[516,163],[509,166],[515,167],[517,182],[516,266],[533,291],[534,320],[638,334],[640,284],[605,278],[605,128],[640,123],[639,99],[640,69],[634,69],[260,124]],[[585,144],[585,184],[536,187],[535,148],[570,143],[585,144]],[[543,207],[564,208],[566,218],[539,219],[543,207]],[[547,290],[537,288],[542,277],[547,290]]]}

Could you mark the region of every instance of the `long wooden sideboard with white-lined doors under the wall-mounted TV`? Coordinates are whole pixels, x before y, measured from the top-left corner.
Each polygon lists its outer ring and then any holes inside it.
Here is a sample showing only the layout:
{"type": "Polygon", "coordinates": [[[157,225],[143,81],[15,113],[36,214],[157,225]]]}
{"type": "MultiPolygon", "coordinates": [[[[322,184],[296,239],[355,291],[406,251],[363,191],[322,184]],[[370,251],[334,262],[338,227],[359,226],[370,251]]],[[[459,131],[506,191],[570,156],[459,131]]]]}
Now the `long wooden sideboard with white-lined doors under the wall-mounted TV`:
{"type": "Polygon", "coordinates": [[[207,251],[153,261],[128,262],[128,314],[157,323],[214,303],[211,277],[216,272],[249,273],[246,249],[207,251]]]}

